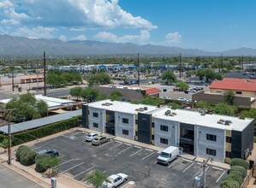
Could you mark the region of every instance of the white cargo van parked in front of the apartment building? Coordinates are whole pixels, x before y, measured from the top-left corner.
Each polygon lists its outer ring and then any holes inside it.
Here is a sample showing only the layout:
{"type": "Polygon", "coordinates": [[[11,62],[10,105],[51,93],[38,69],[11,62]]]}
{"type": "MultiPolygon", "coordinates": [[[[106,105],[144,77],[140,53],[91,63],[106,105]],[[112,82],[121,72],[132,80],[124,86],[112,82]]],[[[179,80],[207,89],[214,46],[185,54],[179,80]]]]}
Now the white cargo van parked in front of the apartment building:
{"type": "Polygon", "coordinates": [[[180,151],[178,147],[169,146],[168,148],[159,151],[158,163],[168,165],[170,162],[172,162],[179,156],[179,153],[180,151]]]}

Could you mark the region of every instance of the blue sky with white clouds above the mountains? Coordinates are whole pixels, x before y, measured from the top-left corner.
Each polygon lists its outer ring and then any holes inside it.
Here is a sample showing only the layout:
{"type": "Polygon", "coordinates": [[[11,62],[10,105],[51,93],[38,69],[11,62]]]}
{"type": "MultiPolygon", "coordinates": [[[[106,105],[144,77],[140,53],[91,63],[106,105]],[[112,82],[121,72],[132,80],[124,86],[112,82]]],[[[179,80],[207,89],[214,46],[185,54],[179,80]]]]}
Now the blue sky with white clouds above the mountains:
{"type": "Polygon", "coordinates": [[[256,49],[255,0],[0,0],[0,34],[256,49]]]}

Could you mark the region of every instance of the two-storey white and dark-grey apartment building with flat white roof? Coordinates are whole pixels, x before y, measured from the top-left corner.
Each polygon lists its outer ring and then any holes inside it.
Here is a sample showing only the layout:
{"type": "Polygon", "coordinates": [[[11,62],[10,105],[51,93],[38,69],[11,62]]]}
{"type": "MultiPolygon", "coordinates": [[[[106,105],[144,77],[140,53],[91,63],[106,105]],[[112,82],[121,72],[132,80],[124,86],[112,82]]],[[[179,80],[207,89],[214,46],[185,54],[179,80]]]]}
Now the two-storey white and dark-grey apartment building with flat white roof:
{"type": "Polygon", "coordinates": [[[182,147],[217,162],[247,158],[253,150],[253,119],[110,100],[83,105],[82,116],[83,126],[92,130],[163,148],[182,147]]]}

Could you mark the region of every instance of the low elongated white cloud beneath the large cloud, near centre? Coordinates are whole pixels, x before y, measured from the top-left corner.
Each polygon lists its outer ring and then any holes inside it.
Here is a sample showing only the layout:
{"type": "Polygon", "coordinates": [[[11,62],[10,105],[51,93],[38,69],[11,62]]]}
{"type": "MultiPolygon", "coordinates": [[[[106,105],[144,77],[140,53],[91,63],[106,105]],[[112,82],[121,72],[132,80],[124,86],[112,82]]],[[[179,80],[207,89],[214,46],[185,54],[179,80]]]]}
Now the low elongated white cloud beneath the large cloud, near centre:
{"type": "Polygon", "coordinates": [[[124,35],[122,37],[111,32],[98,32],[94,38],[102,42],[147,44],[151,35],[146,30],[141,30],[140,35],[124,35]]]}

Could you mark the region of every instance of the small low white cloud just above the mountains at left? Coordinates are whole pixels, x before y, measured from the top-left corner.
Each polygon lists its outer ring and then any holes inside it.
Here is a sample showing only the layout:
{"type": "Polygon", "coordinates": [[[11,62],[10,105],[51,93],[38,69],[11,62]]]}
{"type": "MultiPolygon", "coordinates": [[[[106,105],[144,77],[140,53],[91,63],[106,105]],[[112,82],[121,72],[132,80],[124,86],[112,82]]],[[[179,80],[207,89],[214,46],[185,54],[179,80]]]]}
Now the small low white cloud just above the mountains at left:
{"type": "Polygon", "coordinates": [[[54,38],[51,32],[57,31],[52,27],[38,26],[32,29],[26,26],[19,27],[13,32],[14,36],[26,36],[27,38],[54,38]]]}

